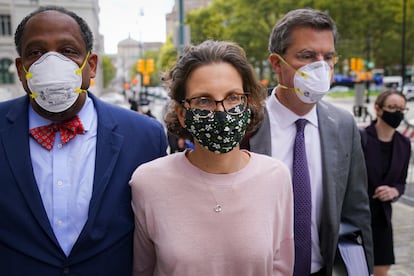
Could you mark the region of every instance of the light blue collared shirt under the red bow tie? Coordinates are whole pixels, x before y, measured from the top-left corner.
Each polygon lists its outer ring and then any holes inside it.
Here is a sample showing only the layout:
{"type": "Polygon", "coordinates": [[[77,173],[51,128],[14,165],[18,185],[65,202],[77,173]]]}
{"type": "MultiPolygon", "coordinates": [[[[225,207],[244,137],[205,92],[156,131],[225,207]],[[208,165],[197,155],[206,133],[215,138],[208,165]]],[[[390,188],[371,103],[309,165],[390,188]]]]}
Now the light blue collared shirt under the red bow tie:
{"type": "MultiPolygon", "coordinates": [[[[30,138],[30,156],[50,225],[68,256],[88,219],[95,171],[97,114],[87,97],[78,113],[85,134],[62,145],[59,131],[51,151],[30,138]]],[[[29,105],[29,129],[51,124],[29,105]]],[[[29,134],[28,134],[29,135],[29,134]]]]}

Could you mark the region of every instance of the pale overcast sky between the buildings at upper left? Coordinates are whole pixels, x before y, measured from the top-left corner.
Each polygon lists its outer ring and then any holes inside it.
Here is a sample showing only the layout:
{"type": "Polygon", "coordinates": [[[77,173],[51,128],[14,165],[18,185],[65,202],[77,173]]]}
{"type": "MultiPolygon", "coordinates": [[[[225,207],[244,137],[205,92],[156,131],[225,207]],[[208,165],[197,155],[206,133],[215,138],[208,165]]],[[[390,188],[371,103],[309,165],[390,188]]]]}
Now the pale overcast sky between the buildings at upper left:
{"type": "Polygon", "coordinates": [[[118,42],[128,36],[138,41],[165,42],[165,15],[172,11],[174,0],[99,0],[99,5],[105,53],[116,53],[118,42]]]}

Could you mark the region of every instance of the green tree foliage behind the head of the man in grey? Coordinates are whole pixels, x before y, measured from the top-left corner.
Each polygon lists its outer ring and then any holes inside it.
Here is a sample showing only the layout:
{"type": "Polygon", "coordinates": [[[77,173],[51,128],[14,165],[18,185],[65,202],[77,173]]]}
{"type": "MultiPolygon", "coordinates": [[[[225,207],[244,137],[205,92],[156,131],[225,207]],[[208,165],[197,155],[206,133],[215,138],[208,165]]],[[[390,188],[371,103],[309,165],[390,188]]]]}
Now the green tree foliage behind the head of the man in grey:
{"type": "Polygon", "coordinates": [[[404,1],[405,63],[414,64],[414,0],[213,0],[207,8],[189,13],[186,24],[193,44],[207,39],[237,42],[264,77],[273,25],[289,10],[311,7],[328,12],[337,24],[339,71],[345,60],[361,57],[393,72],[401,63],[404,1]]]}

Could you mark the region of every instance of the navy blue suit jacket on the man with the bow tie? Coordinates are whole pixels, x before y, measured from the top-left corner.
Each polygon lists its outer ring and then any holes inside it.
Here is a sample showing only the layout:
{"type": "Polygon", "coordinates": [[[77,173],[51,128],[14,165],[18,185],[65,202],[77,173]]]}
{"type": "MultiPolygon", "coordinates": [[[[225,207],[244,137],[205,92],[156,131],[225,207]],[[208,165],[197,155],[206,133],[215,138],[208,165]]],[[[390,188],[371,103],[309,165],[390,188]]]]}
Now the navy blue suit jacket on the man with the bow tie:
{"type": "Polygon", "coordinates": [[[54,236],[33,174],[28,97],[0,103],[2,275],[132,275],[128,182],[138,165],[166,154],[166,136],[156,120],[89,97],[98,114],[93,193],[88,221],[68,257],[54,236]]]}

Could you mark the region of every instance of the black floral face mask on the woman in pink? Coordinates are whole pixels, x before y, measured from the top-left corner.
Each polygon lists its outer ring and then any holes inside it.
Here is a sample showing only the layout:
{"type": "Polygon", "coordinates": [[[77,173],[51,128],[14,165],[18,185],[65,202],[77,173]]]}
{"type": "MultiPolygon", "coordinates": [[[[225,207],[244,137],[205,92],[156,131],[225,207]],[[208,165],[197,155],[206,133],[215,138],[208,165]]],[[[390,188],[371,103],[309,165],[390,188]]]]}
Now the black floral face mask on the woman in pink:
{"type": "Polygon", "coordinates": [[[187,131],[200,145],[216,154],[234,149],[243,139],[250,123],[250,109],[238,115],[214,111],[205,116],[206,112],[210,111],[187,109],[184,118],[187,131]]]}

